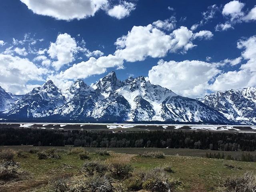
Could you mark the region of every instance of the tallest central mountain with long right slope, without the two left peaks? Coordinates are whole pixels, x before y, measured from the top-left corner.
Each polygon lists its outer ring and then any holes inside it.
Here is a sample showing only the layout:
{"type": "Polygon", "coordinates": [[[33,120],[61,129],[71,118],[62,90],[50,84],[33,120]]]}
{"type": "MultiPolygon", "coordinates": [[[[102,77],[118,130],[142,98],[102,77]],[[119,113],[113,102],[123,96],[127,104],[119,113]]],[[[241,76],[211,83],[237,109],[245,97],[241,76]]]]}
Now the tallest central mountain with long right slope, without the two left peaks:
{"type": "Polygon", "coordinates": [[[76,92],[53,114],[70,120],[228,122],[202,102],[152,85],[143,76],[121,82],[110,72],[86,90],[90,91],[76,92]]]}

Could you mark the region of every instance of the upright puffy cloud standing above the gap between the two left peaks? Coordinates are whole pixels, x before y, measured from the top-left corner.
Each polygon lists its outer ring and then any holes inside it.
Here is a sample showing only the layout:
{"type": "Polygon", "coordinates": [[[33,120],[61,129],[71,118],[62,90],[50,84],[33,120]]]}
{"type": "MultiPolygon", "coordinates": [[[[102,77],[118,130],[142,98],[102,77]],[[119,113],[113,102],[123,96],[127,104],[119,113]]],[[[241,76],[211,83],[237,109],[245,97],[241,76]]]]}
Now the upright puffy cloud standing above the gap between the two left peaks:
{"type": "Polygon", "coordinates": [[[52,62],[56,70],[59,70],[63,65],[74,60],[74,54],[78,51],[76,40],[69,34],[59,34],[56,42],[51,43],[47,51],[52,59],[57,61],[52,62]]]}

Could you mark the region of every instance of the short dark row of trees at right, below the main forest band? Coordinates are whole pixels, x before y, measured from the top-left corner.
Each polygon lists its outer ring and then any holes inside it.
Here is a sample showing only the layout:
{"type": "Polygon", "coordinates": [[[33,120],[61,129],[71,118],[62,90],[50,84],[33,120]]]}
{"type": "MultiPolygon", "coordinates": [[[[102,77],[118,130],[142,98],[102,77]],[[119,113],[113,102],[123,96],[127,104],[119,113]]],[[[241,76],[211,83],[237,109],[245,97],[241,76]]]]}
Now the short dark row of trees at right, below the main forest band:
{"type": "Polygon", "coordinates": [[[206,158],[214,158],[214,159],[226,159],[226,160],[236,160],[236,161],[245,161],[245,162],[256,162],[256,155],[252,155],[250,153],[243,153],[241,158],[233,158],[231,155],[224,155],[224,153],[206,153],[206,158]]]}

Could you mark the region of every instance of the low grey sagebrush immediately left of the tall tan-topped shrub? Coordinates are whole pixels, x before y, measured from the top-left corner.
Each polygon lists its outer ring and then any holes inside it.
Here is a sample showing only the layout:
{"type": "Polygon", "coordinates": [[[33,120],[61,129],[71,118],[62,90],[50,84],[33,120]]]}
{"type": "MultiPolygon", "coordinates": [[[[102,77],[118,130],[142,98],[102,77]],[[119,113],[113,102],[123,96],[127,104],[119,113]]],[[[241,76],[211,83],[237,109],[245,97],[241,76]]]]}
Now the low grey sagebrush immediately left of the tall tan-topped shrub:
{"type": "Polygon", "coordinates": [[[87,161],[82,166],[82,171],[92,176],[93,174],[104,175],[108,171],[108,165],[100,160],[87,161]]]}

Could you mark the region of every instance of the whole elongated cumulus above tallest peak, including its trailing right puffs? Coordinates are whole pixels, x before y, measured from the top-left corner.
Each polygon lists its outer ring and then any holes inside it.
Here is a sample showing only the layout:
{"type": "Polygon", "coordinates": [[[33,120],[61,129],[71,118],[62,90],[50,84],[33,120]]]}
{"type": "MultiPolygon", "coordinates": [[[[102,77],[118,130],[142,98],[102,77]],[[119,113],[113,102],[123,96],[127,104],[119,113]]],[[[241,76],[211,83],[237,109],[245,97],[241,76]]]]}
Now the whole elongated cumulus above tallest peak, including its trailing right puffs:
{"type": "Polygon", "coordinates": [[[146,57],[164,57],[170,52],[186,53],[193,48],[192,41],[195,38],[208,38],[211,32],[201,31],[194,33],[188,28],[181,26],[171,34],[148,26],[133,26],[126,36],[118,38],[115,42],[117,50],[115,55],[129,62],[142,61],[146,57]]]}

